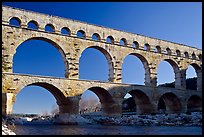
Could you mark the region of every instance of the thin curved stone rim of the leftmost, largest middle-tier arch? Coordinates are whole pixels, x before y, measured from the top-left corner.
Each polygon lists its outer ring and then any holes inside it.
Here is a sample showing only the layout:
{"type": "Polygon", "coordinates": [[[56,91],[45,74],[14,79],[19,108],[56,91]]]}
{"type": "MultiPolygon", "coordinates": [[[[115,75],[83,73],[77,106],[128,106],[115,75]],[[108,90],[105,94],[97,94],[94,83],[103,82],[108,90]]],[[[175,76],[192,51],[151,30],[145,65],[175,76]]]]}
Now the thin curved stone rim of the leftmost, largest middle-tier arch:
{"type": "MultiPolygon", "coordinates": [[[[64,62],[64,68],[65,68],[65,77],[68,77],[68,61],[66,60],[66,54],[65,54],[65,51],[62,49],[62,47],[60,47],[60,45],[58,45],[56,42],[54,42],[53,40],[51,39],[48,39],[48,38],[45,38],[45,37],[30,37],[30,38],[27,38],[26,40],[24,40],[23,42],[19,42],[17,44],[17,46],[15,47],[15,51],[13,53],[13,57],[12,57],[12,66],[13,66],[13,63],[14,63],[14,56],[15,56],[15,53],[16,53],[16,50],[17,48],[24,42],[26,41],[29,41],[29,40],[42,40],[42,41],[45,41],[45,42],[48,42],[50,43],[51,45],[53,45],[61,54],[61,57],[63,59],[63,62],[64,62]]],[[[12,69],[13,71],[13,69],[12,69]]]]}

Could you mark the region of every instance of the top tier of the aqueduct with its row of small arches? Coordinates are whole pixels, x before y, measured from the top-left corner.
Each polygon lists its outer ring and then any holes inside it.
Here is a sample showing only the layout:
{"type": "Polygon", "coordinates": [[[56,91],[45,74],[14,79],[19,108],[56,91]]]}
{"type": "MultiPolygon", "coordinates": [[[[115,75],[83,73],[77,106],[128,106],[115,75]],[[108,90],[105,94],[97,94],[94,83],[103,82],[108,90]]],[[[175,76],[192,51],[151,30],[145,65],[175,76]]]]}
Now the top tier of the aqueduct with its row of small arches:
{"type": "Polygon", "coordinates": [[[37,31],[45,31],[45,28],[50,26],[52,31],[48,33],[65,35],[64,32],[67,31],[66,36],[78,37],[77,33],[80,32],[82,36],[79,38],[83,39],[97,40],[118,46],[131,47],[137,50],[146,50],[147,52],[157,52],[158,54],[202,61],[201,50],[182,44],[5,6],[3,6],[2,15],[3,24],[12,25],[10,21],[16,20],[19,24],[17,27],[32,29],[29,27],[29,24],[32,23],[36,26],[34,30],[37,31]],[[6,14],[5,10],[7,11],[6,14]],[[93,39],[93,35],[95,39],[93,39]],[[110,40],[108,41],[107,39],[110,40]]]}

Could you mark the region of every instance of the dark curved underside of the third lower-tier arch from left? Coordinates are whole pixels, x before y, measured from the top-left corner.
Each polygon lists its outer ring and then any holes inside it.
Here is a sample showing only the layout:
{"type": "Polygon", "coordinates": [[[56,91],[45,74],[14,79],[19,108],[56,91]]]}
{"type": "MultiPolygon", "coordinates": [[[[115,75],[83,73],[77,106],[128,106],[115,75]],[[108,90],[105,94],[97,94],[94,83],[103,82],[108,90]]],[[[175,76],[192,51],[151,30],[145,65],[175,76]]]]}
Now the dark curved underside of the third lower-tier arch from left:
{"type": "Polygon", "coordinates": [[[128,93],[134,98],[138,114],[148,114],[153,112],[153,106],[147,94],[139,89],[131,90],[128,93]]]}

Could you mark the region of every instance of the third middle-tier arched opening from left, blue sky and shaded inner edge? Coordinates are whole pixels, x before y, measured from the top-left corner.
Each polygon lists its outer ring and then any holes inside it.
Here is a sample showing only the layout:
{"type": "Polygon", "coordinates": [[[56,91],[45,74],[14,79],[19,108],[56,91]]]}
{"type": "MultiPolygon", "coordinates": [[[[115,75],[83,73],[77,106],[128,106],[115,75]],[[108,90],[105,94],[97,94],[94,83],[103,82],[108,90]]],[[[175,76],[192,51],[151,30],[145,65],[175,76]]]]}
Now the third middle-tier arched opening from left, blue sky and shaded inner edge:
{"type": "Polygon", "coordinates": [[[140,54],[132,53],[122,64],[122,83],[145,85],[150,83],[147,60],[140,54]]]}

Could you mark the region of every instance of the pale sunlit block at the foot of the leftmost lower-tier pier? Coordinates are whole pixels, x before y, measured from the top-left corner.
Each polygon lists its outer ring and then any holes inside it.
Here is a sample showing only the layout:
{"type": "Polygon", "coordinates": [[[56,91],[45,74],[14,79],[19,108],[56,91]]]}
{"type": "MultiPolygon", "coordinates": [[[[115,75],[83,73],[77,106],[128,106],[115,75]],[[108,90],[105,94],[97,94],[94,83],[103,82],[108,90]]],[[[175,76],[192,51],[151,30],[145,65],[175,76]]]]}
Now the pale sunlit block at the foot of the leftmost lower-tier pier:
{"type": "Polygon", "coordinates": [[[2,93],[2,115],[12,114],[15,100],[16,95],[14,93],[2,93]]]}

